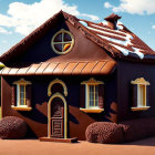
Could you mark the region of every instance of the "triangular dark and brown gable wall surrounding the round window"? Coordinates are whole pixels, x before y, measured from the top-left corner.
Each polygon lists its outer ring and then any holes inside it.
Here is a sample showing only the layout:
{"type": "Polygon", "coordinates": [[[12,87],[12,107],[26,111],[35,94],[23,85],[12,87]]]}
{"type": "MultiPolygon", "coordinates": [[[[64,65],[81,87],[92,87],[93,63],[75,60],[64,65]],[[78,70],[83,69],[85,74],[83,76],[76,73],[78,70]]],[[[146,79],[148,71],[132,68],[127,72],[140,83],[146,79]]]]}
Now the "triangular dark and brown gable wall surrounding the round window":
{"type": "Polygon", "coordinates": [[[23,41],[17,44],[17,49],[12,48],[12,51],[8,51],[10,52],[10,55],[6,54],[8,56],[7,59],[4,59],[6,55],[2,55],[0,60],[2,60],[2,62],[4,62],[7,66],[13,68],[24,68],[33,63],[41,62],[113,60],[111,56],[108,56],[108,54],[106,54],[107,51],[105,49],[101,48],[96,43],[85,38],[82,31],[79,31],[79,29],[76,29],[74,24],[71,23],[69,20],[66,20],[62,13],[59,13],[59,16],[56,16],[56,20],[54,18],[54,22],[52,21],[52,25],[49,27],[48,30],[41,30],[43,29],[42,27],[44,24],[41,25],[41,28],[39,28],[41,32],[39,31],[39,32],[37,34],[33,34],[37,30],[32,32],[33,35],[28,35],[23,41]],[[71,32],[74,38],[74,44],[72,46],[72,50],[66,54],[58,54],[51,46],[51,40],[53,35],[62,29],[71,32]],[[35,40],[32,40],[32,38],[35,38],[35,40]],[[18,50],[20,52],[18,52],[18,50]]]}

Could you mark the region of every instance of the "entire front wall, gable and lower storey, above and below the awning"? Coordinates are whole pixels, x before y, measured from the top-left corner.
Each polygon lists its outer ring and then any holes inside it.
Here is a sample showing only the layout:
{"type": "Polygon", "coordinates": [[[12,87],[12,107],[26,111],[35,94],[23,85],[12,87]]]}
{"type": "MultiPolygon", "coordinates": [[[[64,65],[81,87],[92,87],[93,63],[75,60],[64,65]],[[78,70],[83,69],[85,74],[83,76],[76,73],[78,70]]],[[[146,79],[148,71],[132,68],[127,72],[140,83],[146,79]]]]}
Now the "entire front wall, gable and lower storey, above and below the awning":
{"type": "MultiPolygon", "coordinates": [[[[21,54],[10,59],[8,66],[21,68],[30,66],[32,63],[40,62],[79,62],[79,61],[114,61],[106,50],[102,49],[91,40],[86,39],[81,31],[75,29],[69,21],[65,21],[63,17],[54,21],[55,27],[51,27],[51,30],[44,32],[42,38],[35,39],[33,45],[28,49],[22,49],[21,54]],[[73,49],[65,55],[55,54],[51,48],[52,37],[61,29],[69,30],[74,35],[73,49]]],[[[114,61],[115,62],[115,61],[114,61]]],[[[66,96],[66,103],[69,106],[68,117],[68,135],[69,137],[79,137],[79,140],[85,140],[85,128],[96,121],[117,121],[117,97],[116,97],[116,71],[110,75],[6,75],[2,76],[2,116],[14,115],[23,118],[30,126],[30,136],[48,135],[48,86],[51,81],[59,78],[68,87],[69,95],[66,96]],[[27,81],[32,82],[32,111],[22,112],[11,108],[11,86],[14,81],[23,78],[27,81]],[[97,81],[103,81],[104,84],[104,112],[100,114],[84,113],[80,111],[80,85],[81,82],[87,81],[94,78],[97,81]]],[[[56,87],[55,87],[56,89],[56,87]]],[[[62,93],[62,87],[58,89],[62,93]]],[[[53,90],[54,92],[54,90],[53,90]]]]}

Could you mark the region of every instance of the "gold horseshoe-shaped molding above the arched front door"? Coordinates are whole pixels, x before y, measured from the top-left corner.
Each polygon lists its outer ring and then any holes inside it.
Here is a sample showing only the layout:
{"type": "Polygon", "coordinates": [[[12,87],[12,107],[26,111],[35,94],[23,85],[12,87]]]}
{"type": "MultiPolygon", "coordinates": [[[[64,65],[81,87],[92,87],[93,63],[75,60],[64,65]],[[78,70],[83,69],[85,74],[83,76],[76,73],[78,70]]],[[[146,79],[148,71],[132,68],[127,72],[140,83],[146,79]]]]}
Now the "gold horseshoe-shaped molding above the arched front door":
{"type": "Polygon", "coordinates": [[[49,86],[48,86],[48,96],[51,96],[52,95],[52,92],[51,92],[51,87],[55,84],[55,83],[60,83],[62,86],[63,86],[63,93],[65,96],[68,96],[68,87],[65,85],[65,83],[59,79],[55,79],[53,80],[52,82],[50,82],[49,86]]]}

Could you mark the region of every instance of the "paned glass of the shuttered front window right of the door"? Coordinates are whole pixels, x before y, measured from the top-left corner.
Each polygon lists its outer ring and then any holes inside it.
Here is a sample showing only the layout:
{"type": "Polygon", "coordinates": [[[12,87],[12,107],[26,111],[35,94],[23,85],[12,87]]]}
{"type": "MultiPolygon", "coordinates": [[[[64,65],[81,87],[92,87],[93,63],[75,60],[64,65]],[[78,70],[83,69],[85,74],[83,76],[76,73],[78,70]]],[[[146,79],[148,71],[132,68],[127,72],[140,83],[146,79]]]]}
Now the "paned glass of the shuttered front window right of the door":
{"type": "Polygon", "coordinates": [[[99,86],[87,85],[89,87],[89,107],[99,107],[99,86]]]}

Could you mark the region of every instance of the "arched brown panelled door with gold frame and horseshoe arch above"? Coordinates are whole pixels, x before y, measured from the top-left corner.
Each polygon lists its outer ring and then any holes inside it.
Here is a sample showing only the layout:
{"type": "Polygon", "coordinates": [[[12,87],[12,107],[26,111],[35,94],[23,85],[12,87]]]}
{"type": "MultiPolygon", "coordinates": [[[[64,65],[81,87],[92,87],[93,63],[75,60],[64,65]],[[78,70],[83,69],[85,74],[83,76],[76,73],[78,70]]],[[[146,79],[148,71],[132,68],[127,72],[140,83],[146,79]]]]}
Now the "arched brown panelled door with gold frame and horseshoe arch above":
{"type": "Polygon", "coordinates": [[[50,82],[48,95],[51,96],[48,103],[48,137],[68,138],[68,105],[65,101],[68,87],[65,83],[59,79],[50,82]],[[63,91],[60,91],[56,85],[61,85],[63,91]]]}

